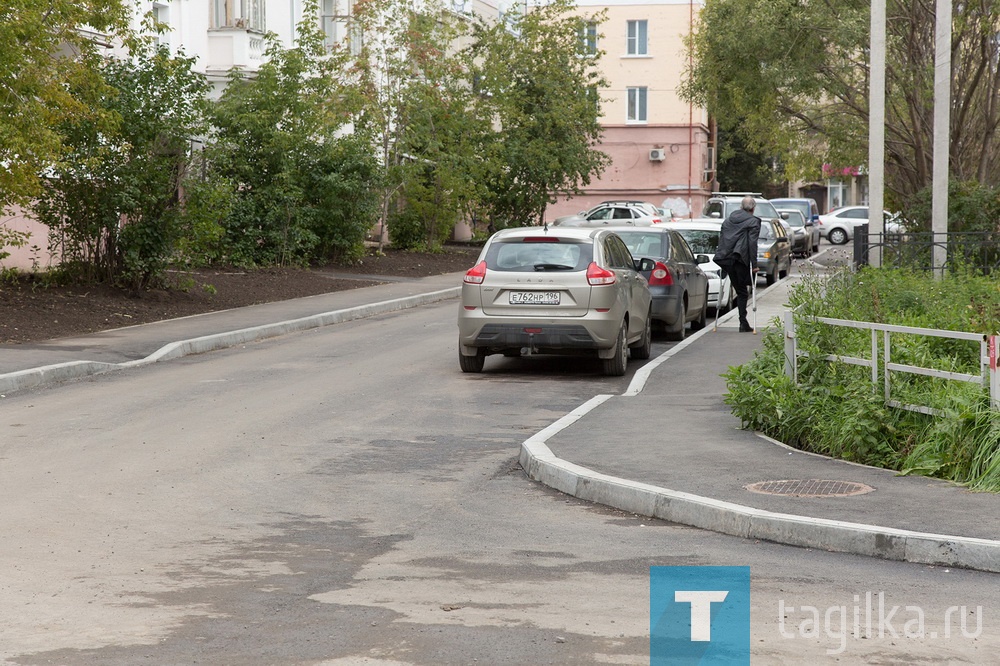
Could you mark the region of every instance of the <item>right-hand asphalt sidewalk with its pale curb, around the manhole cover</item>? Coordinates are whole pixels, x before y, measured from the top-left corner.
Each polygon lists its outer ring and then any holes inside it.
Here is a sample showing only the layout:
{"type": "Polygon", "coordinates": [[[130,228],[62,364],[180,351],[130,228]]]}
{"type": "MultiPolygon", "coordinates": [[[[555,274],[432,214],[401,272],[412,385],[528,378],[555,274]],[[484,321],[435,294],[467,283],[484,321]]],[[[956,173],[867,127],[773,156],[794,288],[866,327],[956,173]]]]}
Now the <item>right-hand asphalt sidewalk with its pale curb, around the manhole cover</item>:
{"type": "MultiPolygon", "coordinates": [[[[788,284],[759,293],[759,327],[780,318],[788,284]]],[[[761,336],[739,333],[734,314],[640,369],[625,394],[597,396],[525,442],[529,476],[583,499],[728,534],[1000,571],[1000,495],[831,460],[741,430],[720,375],[750,360],[761,336]],[[797,497],[746,488],[789,480],[874,490],[797,497]]]]}

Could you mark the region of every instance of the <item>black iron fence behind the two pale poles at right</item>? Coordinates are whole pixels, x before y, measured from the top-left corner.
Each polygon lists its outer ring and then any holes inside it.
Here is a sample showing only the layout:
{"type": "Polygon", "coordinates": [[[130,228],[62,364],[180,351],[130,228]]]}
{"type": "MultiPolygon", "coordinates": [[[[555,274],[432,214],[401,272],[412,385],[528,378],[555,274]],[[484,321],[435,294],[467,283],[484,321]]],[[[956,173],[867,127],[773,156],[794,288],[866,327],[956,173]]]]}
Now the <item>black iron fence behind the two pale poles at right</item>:
{"type": "Polygon", "coordinates": [[[878,249],[882,252],[882,266],[934,270],[935,247],[946,253],[941,266],[945,270],[974,268],[987,275],[1000,272],[1000,232],[869,234],[867,224],[854,230],[854,265],[868,265],[878,249]]]}

